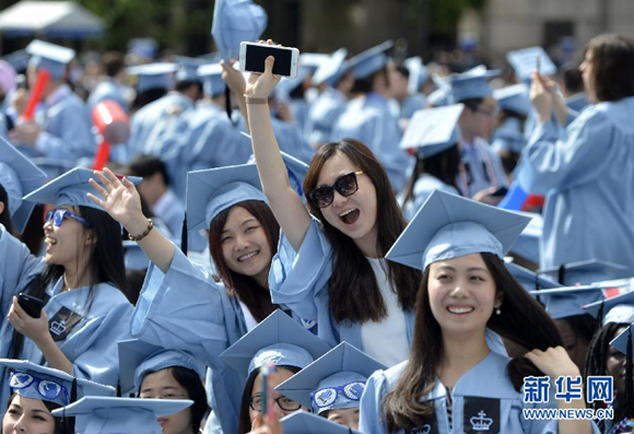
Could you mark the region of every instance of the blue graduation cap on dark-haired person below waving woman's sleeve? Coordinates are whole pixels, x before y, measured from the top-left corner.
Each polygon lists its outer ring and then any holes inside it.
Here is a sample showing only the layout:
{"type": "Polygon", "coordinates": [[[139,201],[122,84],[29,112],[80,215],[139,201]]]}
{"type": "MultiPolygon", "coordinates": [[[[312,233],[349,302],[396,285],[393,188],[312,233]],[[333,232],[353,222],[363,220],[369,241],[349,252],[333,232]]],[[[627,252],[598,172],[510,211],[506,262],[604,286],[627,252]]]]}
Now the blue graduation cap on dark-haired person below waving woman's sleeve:
{"type": "Polygon", "coordinates": [[[186,351],[168,350],[138,339],[119,341],[117,344],[120,386],[124,392],[140,392],[145,374],[175,366],[193,371],[201,383],[204,379],[204,366],[186,351]]]}

